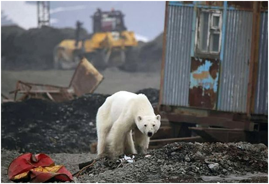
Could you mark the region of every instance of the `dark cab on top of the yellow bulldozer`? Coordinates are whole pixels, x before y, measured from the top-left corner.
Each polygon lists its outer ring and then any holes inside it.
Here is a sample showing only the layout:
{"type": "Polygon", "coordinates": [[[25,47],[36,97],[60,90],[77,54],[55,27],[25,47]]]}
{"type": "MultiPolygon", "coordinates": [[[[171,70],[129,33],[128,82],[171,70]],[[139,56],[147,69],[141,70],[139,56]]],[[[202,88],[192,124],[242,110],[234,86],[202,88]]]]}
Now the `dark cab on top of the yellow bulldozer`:
{"type": "Polygon", "coordinates": [[[121,11],[101,11],[99,8],[92,16],[93,32],[121,32],[126,27],[123,21],[124,15],[121,11]]]}

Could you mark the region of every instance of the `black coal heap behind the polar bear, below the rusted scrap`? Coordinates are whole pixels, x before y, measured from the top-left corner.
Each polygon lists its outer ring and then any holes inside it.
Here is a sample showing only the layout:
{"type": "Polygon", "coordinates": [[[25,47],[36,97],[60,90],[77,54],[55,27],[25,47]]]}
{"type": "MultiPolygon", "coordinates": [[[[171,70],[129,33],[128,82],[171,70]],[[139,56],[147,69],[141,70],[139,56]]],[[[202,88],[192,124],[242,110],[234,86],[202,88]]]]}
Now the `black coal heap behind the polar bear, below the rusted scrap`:
{"type": "MultiPolygon", "coordinates": [[[[158,90],[145,89],[151,102],[158,90]]],[[[55,103],[40,99],[1,104],[1,143],[8,150],[32,153],[89,152],[97,139],[95,116],[109,95],[86,94],[55,103]]]]}

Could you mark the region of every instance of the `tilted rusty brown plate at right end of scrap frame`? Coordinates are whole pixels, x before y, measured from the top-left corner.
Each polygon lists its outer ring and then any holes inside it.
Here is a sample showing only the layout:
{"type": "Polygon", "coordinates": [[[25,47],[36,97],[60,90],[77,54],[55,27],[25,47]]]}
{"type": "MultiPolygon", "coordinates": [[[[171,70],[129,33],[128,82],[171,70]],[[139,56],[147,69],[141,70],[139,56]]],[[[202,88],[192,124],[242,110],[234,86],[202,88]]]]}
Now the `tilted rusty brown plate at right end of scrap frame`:
{"type": "Polygon", "coordinates": [[[93,92],[100,82],[103,75],[86,59],[83,58],[79,63],[69,87],[74,89],[77,96],[93,92]]]}

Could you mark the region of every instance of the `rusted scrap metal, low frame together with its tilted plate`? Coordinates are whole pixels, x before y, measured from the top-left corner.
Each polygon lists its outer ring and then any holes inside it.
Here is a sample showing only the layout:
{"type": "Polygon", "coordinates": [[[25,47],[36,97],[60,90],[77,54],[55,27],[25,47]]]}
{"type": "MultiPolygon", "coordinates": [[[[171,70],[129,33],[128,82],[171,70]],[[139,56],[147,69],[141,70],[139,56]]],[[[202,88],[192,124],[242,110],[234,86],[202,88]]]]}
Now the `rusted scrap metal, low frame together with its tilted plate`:
{"type": "Polygon", "coordinates": [[[16,90],[10,93],[14,93],[14,101],[40,98],[62,102],[74,99],[74,94],[81,96],[93,92],[102,80],[103,75],[87,59],[83,58],[71,79],[69,87],[18,81],[16,90]]]}

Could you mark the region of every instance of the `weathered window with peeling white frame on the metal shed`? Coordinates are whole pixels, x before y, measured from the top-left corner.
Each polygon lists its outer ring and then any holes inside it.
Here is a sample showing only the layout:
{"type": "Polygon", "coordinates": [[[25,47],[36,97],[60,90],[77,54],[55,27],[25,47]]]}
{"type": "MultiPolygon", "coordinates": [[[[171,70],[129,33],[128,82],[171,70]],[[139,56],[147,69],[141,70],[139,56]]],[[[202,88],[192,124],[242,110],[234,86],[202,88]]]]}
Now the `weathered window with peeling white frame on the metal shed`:
{"type": "Polygon", "coordinates": [[[197,23],[196,55],[218,56],[221,48],[222,12],[200,9],[197,23]]]}

